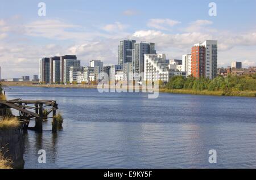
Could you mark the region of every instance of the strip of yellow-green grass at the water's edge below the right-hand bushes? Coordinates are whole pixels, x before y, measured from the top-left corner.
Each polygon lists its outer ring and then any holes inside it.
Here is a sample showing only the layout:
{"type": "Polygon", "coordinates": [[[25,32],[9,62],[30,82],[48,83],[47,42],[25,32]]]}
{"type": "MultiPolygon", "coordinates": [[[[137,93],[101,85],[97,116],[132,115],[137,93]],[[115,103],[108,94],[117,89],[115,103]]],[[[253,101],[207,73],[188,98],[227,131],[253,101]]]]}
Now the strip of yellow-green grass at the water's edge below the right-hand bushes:
{"type": "Polygon", "coordinates": [[[176,94],[189,94],[189,95],[208,95],[208,96],[240,96],[240,97],[256,97],[256,91],[236,91],[225,93],[223,91],[194,91],[191,89],[167,89],[160,88],[159,92],[163,93],[176,93],[176,94]]]}

